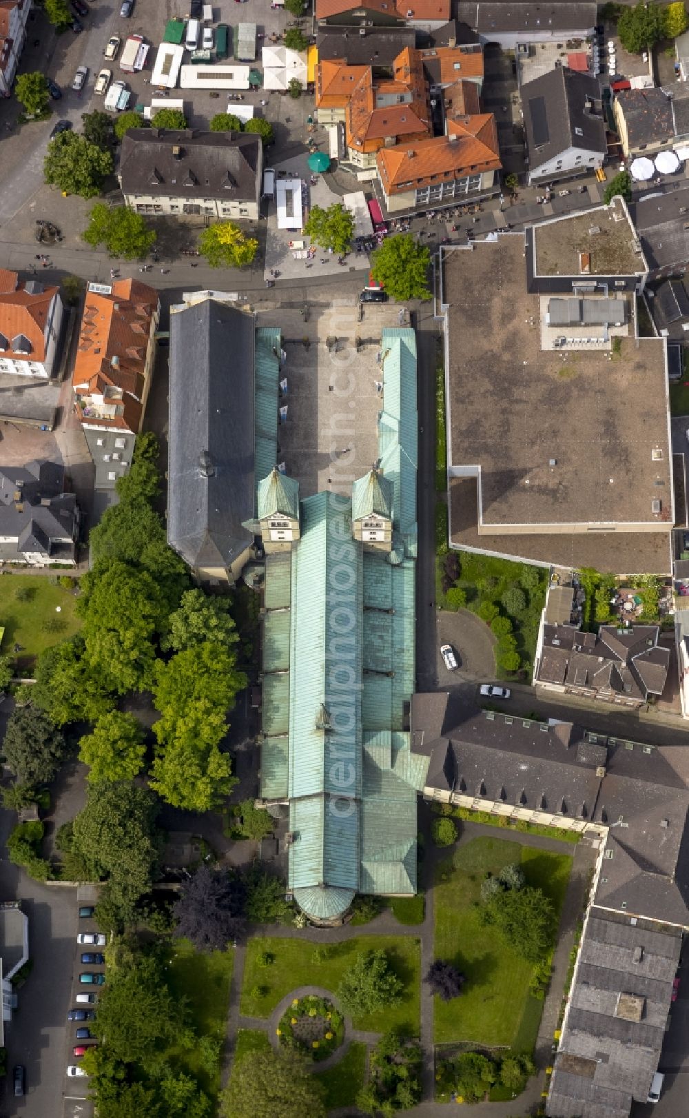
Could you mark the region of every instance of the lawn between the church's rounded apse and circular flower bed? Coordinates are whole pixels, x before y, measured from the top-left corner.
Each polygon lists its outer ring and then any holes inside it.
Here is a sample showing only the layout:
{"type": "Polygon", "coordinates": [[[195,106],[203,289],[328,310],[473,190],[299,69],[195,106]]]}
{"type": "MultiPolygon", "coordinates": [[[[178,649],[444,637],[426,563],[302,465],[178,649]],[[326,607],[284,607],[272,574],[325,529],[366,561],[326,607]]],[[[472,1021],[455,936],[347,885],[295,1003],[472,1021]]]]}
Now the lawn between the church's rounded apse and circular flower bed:
{"type": "Polygon", "coordinates": [[[404,983],[402,1001],[384,1011],[365,1014],[354,1020],[355,1029],[386,1032],[400,1029],[419,1034],[420,949],[412,936],[357,936],[335,946],[335,954],[324,963],[314,961],[316,945],[305,939],[274,939],[257,936],[247,947],[240,1012],[248,1017],[268,1017],[278,1002],[298,986],[323,986],[333,993],[344,972],[358,951],[382,947],[390,963],[404,983]],[[257,957],[268,951],[274,963],[259,967],[257,957]],[[265,986],[267,993],[257,996],[255,987],[265,986]]]}

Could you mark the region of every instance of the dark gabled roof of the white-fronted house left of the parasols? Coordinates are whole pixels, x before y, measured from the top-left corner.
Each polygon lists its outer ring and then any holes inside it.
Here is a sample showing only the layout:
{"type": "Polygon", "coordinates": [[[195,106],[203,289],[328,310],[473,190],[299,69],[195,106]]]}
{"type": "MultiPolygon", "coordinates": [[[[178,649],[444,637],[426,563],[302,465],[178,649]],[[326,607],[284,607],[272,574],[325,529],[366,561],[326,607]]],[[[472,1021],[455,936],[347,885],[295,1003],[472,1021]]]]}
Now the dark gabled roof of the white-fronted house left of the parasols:
{"type": "Polygon", "coordinates": [[[592,74],[548,70],[521,86],[521,107],[532,170],[568,148],[605,153],[601,85],[592,74]]]}

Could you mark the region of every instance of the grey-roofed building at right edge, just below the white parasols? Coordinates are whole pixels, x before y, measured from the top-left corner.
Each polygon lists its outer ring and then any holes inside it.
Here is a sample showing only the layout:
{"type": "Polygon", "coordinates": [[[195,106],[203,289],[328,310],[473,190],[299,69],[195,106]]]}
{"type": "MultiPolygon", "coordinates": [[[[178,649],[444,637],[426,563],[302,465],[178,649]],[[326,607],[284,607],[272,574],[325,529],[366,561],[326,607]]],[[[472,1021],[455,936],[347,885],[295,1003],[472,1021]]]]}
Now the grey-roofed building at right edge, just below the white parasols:
{"type": "Polygon", "coordinates": [[[653,193],[630,206],[649,280],[681,278],[689,267],[689,187],[679,182],[667,195],[653,193]]]}

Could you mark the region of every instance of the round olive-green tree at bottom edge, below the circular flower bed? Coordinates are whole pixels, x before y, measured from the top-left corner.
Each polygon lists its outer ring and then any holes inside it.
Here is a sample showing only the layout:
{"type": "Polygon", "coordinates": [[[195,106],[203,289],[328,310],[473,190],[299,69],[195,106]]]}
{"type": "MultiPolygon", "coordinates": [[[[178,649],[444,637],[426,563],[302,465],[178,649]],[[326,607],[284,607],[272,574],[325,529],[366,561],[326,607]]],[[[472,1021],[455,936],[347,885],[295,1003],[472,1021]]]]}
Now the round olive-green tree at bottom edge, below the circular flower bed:
{"type": "Polygon", "coordinates": [[[222,1095],[222,1118],[325,1118],[323,1087],[290,1050],[248,1052],[222,1095]]]}

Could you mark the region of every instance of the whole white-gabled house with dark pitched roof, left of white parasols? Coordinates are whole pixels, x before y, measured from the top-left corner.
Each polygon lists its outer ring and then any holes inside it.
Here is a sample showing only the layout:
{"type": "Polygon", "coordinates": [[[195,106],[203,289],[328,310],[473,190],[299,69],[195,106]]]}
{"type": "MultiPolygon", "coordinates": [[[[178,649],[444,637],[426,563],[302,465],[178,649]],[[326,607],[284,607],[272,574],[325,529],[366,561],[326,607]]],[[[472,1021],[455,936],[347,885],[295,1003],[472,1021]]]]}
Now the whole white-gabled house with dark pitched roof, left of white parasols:
{"type": "Polygon", "coordinates": [[[601,84],[592,74],[558,66],[521,86],[532,184],[590,174],[607,145],[601,84]]]}

